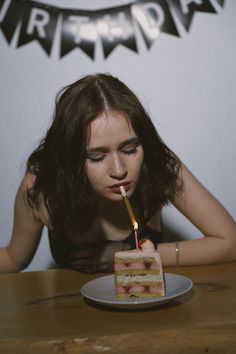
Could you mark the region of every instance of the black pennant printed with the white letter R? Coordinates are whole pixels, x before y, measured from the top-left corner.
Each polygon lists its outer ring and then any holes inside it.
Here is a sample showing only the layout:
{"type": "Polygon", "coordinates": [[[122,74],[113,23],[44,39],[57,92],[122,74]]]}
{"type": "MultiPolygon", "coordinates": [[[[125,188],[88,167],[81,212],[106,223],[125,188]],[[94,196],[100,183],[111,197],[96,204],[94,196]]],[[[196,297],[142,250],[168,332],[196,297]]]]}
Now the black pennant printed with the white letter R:
{"type": "Polygon", "coordinates": [[[27,2],[17,47],[34,40],[50,55],[54,40],[58,9],[38,2],[27,2]]]}

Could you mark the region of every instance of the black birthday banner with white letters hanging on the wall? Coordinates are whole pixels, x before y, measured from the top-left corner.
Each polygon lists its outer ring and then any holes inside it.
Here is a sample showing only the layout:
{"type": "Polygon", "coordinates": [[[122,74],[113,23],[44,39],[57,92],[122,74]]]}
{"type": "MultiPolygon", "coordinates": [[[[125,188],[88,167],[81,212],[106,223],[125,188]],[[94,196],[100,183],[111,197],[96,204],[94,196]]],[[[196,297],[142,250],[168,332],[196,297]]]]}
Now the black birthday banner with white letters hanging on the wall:
{"type": "Polygon", "coordinates": [[[107,58],[119,44],[138,53],[138,30],[147,49],[161,32],[180,37],[176,20],[189,32],[196,12],[217,13],[214,2],[223,7],[225,0],[137,0],[92,11],[28,0],[0,0],[0,28],[8,44],[15,36],[16,48],[37,41],[48,56],[57,41],[59,58],[80,48],[95,59],[95,46],[100,40],[107,58]]]}

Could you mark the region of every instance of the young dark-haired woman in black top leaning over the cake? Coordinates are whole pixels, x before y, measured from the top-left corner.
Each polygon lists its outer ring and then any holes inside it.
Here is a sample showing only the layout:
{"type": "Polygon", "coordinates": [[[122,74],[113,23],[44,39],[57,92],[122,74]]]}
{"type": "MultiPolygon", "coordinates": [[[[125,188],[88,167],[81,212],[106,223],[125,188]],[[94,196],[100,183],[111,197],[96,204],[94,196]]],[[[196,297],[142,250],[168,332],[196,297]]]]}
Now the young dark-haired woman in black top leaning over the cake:
{"type": "Polygon", "coordinates": [[[163,143],[130,89],[97,74],[58,96],[51,127],[29,157],[16,195],[0,271],[30,263],[43,226],[59,266],[111,271],[114,252],[135,247],[120,186],[133,206],[139,238],[158,246],[163,265],[236,259],[233,218],[163,143]],[[167,203],[199,229],[198,239],[162,242],[161,210],[167,203]]]}

